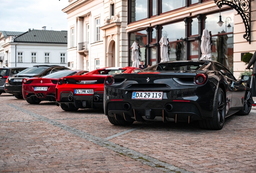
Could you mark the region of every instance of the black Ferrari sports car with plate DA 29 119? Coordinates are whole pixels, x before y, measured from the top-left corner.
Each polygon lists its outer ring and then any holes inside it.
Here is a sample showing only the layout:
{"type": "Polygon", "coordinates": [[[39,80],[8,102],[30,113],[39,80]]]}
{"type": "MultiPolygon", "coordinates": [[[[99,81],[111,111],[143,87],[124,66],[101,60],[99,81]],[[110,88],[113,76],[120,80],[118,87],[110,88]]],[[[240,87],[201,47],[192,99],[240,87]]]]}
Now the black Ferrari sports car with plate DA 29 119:
{"type": "Polygon", "coordinates": [[[250,113],[249,79],[237,80],[212,60],[162,62],[137,73],[107,76],[104,112],[113,125],[199,121],[202,129],[219,130],[225,117],[250,113]]]}

